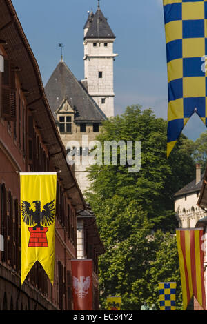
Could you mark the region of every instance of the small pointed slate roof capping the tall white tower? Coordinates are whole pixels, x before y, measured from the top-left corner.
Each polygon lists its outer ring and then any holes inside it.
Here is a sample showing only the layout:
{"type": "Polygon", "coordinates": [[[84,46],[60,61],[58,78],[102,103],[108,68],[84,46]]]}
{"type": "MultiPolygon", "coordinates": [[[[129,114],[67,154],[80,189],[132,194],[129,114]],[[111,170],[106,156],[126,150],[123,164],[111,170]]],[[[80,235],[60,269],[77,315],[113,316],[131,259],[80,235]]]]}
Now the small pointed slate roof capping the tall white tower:
{"type": "MultiPolygon", "coordinates": [[[[88,21],[86,21],[86,23],[88,23],[88,21]]],[[[110,29],[110,26],[108,25],[106,18],[103,16],[100,8],[98,8],[95,16],[92,18],[92,22],[89,23],[89,26],[90,27],[84,39],[94,37],[115,38],[115,34],[110,29]]]]}

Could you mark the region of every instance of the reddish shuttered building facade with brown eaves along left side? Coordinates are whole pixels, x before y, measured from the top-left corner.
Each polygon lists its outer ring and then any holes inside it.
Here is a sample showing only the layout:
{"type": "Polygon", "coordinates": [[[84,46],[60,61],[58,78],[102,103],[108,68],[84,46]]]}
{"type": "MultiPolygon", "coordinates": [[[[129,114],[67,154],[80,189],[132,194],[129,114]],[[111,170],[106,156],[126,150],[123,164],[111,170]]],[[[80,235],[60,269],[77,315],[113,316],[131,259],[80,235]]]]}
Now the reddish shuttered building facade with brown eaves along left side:
{"type": "MultiPolygon", "coordinates": [[[[0,17],[0,310],[72,310],[70,260],[77,259],[77,215],[88,205],[66,161],[37,61],[12,1],[0,1],[0,17]],[[21,285],[19,172],[57,172],[53,286],[40,263],[21,285]]],[[[85,222],[86,232],[89,227],[85,222]]],[[[96,258],[104,249],[98,232],[91,240],[93,250],[86,250],[86,257],[95,257],[93,298],[99,309],[96,258]]]]}

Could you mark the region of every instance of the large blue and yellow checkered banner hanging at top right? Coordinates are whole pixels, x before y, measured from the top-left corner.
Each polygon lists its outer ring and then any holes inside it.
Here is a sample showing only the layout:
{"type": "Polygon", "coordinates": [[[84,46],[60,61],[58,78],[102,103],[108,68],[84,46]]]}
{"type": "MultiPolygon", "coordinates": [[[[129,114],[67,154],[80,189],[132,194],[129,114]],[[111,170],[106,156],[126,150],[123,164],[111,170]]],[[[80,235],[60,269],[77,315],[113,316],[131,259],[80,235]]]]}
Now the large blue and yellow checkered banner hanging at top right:
{"type": "Polygon", "coordinates": [[[207,0],[163,0],[168,65],[169,156],[197,113],[207,125],[207,0]]]}

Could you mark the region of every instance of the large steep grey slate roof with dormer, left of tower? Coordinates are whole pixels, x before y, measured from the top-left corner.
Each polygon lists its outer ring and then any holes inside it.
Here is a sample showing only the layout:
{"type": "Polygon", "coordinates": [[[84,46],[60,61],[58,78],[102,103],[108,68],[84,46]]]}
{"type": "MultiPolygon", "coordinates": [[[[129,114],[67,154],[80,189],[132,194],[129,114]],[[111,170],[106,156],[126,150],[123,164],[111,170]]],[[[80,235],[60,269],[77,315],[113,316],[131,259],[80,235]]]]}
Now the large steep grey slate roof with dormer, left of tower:
{"type": "Polygon", "coordinates": [[[106,119],[106,115],[63,61],[58,63],[52,73],[45,92],[55,119],[55,111],[66,97],[75,110],[75,122],[101,122],[106,119]]]}

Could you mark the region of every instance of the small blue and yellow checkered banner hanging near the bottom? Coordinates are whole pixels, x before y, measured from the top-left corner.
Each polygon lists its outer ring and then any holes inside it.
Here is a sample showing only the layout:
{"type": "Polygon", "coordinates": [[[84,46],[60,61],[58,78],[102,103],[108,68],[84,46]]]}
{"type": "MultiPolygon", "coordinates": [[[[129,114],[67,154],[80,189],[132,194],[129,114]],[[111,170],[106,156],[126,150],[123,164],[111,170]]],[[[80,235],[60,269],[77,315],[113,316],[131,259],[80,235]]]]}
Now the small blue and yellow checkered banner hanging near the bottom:
{"type": "Polygon", "coordinates": [[[176,283],[159,283],[159,309],[175,310],[176,283]]]}

